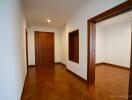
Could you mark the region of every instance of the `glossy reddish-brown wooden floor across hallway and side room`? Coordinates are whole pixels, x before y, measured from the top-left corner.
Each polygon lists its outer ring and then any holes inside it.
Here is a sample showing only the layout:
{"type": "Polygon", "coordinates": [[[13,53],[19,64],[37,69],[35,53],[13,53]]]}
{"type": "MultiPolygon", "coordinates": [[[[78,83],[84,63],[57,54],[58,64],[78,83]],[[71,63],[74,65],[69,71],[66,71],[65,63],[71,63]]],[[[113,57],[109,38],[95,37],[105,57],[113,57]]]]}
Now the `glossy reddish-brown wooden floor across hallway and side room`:
{"type": "Polygon", "coordinates": [[[127,100],[128,79],[128,70],[99,65],[89,86],[60,64],[32,67],[21,100],[127,100]]]}

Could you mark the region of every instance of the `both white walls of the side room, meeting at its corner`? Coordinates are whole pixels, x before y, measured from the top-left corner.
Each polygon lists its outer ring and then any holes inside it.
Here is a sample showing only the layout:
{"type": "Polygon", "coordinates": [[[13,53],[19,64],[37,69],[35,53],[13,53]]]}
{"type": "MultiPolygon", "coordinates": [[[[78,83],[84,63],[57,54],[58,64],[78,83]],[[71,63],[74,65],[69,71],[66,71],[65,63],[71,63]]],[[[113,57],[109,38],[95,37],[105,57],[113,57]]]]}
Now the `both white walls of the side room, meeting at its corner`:
{"type": "Polygon", "coordinates": [[[130,67],[131,21],[113,23],[102,28],[99,31],[97,25],[96,63],[106,62],[130,67]],[[99,42],[100,39],[103,42],[99,42]]]}

